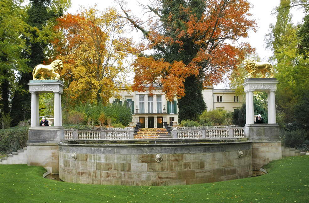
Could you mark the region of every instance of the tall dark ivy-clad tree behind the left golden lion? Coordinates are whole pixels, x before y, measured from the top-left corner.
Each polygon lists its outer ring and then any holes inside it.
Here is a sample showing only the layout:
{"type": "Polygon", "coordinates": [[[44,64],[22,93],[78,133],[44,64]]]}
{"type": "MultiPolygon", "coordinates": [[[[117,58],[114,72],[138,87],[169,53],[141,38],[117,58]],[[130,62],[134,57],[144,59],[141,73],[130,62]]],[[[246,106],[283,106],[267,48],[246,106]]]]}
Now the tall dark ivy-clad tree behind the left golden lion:
{"type": "Polygon", "coordinates": [[[29,69],[19,73],[12,100],[12,125],[17,125],[21,119],[27,119],[31,115],[31,95],[27,83],[32,80],[32,69],[48,61],[46,53],[50,49],[50,41],[54,35],[52,24],[70,6],[70,0],[30,0],[29,2],[26,18],[29,27],[26,29],[27,34],[23,35],[26,41],[23,58],[27,59],[29,69]]]}

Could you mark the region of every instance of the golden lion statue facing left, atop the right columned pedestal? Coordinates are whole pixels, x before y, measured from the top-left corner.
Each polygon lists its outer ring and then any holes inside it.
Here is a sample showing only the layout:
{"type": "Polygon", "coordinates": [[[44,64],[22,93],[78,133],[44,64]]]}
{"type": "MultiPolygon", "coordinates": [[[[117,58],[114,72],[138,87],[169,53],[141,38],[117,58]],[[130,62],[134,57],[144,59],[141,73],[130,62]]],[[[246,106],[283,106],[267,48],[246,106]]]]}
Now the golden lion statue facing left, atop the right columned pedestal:
{"type": "Polygon", "coordinates": [[[257,73],[262,73],[262,78],[266,77],[266,73],[269,72],[268,78],[274,77],[274,68],[268,62],[257,62],[253,59],[244,60],[245,69],[248,71],[248,78],[256,77],[257,73]]]}

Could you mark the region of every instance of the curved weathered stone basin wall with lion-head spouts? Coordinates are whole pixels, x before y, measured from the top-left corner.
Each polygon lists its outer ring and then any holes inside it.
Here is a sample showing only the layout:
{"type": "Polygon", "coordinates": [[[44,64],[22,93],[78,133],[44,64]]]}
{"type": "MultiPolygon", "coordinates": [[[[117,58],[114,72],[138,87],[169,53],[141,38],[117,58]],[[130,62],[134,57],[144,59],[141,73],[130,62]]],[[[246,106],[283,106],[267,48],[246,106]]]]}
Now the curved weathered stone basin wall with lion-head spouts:
{"type": "Polygon", "coordinates": [[[252,176],[251,142],[59,145],[60,179],[72,183],[189,185],[252,176]]]}

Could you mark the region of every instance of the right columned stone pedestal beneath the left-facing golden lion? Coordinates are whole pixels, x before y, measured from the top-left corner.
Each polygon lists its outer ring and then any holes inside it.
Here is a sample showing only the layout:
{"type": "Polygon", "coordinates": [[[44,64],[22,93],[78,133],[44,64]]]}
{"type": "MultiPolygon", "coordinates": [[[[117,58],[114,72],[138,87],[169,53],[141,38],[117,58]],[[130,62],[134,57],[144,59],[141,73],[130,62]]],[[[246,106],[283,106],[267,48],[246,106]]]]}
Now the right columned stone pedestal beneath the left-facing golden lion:
{"type": "Polygon", "coordinates": [[[245,134],[252,143],[252,169],[259,170],[270,161],[282,158],[279,125],[276,124],[276,78],[247,78],[243,86],[246,92],[245,134]],[[268,123],[254,124],[253,92],[268,94],[268,123]]]}

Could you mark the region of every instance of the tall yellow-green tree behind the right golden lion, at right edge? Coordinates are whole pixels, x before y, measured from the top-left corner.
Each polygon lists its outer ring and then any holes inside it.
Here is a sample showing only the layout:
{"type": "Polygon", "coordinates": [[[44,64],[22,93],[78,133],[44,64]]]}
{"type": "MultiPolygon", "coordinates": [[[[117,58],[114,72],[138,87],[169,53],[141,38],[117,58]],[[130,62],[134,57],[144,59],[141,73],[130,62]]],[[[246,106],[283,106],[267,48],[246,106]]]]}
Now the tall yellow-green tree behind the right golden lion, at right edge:
{"type": "Polygon", "coordinates": [[[276,92],[277,115],[285,123],[295,121],[295,105],[301,101],[304,87],[308,86],[308,60],[298,53],[298,28],[291,22],[290,14],[291,7],[305,5],[306,2],[281,0],[275,10],[277,22],[270,25],[266,39],[268,48],[274,51],[271,59],[276,62],[274,69],[279,80],[276,92]]]}

